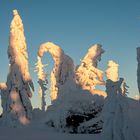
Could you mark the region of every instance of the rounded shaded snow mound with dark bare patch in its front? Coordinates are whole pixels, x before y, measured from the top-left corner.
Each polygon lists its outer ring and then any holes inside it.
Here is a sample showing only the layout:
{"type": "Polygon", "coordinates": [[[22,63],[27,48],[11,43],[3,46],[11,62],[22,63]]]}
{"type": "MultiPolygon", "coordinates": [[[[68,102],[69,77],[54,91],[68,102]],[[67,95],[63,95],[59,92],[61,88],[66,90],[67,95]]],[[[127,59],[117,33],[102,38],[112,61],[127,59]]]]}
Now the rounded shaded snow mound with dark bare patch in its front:
{"type": "MultiPolygon", "coordinates": [[[[91,121],[87,131],[82,124],[100,116],[104,98],[98,95],[91,95],[88,91],[75,94],[67,94],[58,98],[46,111],[46,125],[54,127],[59,132],[65,133],[100,133],[102,121],[91,121]],[[100,128],[99,131],[96,129],[100,128]],[[81,129],[82,128],[82,129],[81,129]],[[83,130],[85,129],[85,130],[83,130]]],[[[85,126],[85,125],[84,125],[85,126]]]]}

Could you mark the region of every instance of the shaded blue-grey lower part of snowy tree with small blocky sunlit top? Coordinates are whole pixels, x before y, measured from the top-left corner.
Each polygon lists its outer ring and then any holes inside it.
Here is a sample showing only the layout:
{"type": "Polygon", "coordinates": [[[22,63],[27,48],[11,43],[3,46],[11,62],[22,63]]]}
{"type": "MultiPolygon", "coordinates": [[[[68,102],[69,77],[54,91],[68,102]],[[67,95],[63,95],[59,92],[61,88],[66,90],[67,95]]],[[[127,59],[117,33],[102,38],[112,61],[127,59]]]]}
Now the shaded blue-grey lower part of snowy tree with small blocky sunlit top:
{"type": "Polygon", "coordinates": [[[123,79],[119,81],[106,81],[107,98],[103,107],[104,125],[103,133],[107,140],[122,140],[122,112],[119,112],[119,96],[122,94],[121,84],[123,79]],[[116,114],[119,113],[119,114],[116,114]],[[117,116],[118,115],[118,116],[117,116]],[[118,118],[119,117],[119,118],[118,118]]]}

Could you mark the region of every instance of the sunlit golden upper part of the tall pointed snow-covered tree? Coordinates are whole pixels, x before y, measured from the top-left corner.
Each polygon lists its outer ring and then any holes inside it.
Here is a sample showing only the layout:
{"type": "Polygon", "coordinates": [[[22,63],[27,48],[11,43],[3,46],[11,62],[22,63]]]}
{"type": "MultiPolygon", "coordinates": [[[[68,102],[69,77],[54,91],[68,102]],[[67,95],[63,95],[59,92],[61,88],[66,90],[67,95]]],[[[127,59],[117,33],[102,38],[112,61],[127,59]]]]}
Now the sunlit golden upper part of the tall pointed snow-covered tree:
{"type": "Polygon", "coordinates": [[[8,57],[10,60],[10,66],[16,65],[17,68],[14,70],[17,71],[19,69],[23,81],[29,82],[30,87],[34,90],[28,68],[28,54],[24,36],[24,27],[17,10],[13,10],[13,19],[10,25],[8,57]]]}

